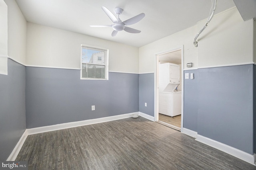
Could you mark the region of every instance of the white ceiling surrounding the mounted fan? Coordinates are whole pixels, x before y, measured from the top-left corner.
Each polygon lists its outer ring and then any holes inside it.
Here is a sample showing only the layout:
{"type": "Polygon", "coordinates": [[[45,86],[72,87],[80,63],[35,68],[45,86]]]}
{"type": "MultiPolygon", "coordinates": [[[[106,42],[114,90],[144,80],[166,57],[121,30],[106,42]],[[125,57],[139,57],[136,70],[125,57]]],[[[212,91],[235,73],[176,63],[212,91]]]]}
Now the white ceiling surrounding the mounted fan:
{"type": "MultiPolygon", "coordinates": [[[[142,47],[196,25],[198,21],[208,17],[212,6],[211,0],[16,0],[16,2],[29,22],[134,47],[142,47]],[[145,13],[145,18],[129,26],[141,30],[141,33],[120,31],[116,37],[112,37],[111,27],[90,27],[89,25],[112,24],[101,6],[106,6],[113,13],[115,7],[123,8],[124,12],[120,15],[122,21],[145,13]]],[[[234,6],[233,0],[218,0],[215,14],[234,6]]]]}

